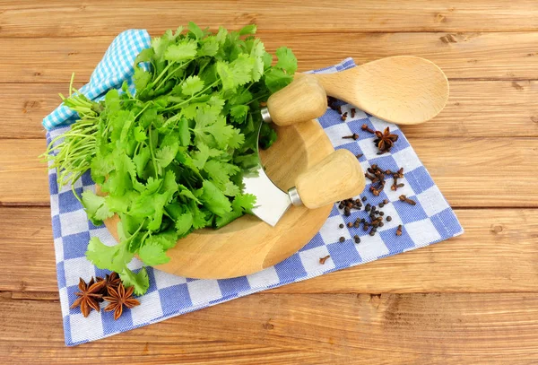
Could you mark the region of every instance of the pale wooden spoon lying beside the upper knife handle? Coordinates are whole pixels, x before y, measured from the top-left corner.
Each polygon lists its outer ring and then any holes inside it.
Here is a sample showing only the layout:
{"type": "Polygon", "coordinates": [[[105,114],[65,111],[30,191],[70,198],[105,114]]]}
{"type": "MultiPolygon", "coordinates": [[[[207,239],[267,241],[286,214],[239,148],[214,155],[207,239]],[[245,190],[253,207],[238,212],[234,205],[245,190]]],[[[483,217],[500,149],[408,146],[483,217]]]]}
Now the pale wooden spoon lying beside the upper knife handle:
{"type": "Polygon", "coordinates": [[[448,99],[447,76],[438,65],[416,56],[386,57],[339,73],[313,75],[327,95],[399,125],[430,120],[448,99]]]}

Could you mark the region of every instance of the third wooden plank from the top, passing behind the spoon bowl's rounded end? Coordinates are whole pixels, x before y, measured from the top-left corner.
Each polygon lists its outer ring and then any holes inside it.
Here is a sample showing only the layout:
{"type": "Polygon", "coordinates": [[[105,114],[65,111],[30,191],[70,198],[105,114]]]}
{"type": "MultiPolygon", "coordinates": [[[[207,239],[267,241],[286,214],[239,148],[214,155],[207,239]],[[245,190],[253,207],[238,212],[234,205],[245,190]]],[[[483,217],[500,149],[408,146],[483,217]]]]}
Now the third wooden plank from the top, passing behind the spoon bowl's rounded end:
{"type": "MultiPolygon", "coordinates": [[[[43,138],[41,120],[59,103],[67,83],[7,83],[0,95],[3,138],[43,138]]],[[[469,81],[450,83],[447,107],[421,126],[403,126],[406,136],[538,136],[537,81],[469,81]]]]}

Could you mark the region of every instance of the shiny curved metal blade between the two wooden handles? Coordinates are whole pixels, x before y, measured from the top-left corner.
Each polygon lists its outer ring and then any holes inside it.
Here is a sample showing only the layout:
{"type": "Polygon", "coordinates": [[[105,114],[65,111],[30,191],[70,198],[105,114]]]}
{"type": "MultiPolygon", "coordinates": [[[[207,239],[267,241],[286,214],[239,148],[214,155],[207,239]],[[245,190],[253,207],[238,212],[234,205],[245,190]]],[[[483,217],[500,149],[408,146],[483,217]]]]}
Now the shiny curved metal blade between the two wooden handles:
{"type": "MultiPolygon", "coordinates": [[[[262,125],[258,129],[259,134],[262,125]]],[[[243,193],[256,196],[256,206],[252,210],[259,219],[275,226],[291,205],[290,196],[274,185],[271,178],[265,174],[260,160],[259,147],[256,145],[257,165],[243,173],[243,193]]]]}

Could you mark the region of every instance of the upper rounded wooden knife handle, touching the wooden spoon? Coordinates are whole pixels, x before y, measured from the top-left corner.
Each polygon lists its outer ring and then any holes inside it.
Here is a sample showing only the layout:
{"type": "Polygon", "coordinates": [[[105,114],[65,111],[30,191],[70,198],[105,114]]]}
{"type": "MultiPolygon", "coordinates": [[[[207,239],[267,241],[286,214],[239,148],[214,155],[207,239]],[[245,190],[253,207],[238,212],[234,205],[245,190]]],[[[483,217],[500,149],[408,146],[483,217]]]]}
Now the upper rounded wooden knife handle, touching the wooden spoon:
{"type": "Polygon", "coordinates": [[[267,100],[267,109],[278,126],[290,126],[324,115],[327,109],[325,89],[317,79],[305,74],[267,100]]]}

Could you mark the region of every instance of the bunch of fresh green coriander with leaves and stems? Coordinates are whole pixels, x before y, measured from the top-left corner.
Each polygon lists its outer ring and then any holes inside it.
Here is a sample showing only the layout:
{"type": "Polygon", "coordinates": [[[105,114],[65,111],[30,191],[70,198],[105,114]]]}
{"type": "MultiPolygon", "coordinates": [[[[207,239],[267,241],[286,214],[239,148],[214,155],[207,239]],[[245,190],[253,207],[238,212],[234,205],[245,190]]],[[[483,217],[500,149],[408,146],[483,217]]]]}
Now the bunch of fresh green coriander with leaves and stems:
{"type": "MultiPolygon", "coordinates": [[[[63,98],[79,120],[49,144],[60,186],[91,169],[104,193],[82,194],[95,224],[117,214],[120,242],[92,238],[86,256],[120,273],[143,294],[143,269],[127,268],[134,254],[146,265],[169,261],[166,251],[189,232],[220,228],[248,213],[256,197],[241,194],[241,174],[257,161],[260,102],[291,83],[297,59],[278,48],[278,62],[256,39],[255,25],[216,34],[195,23],[152,39],[134,62],[135,94],[126,83],[94,102],[70,86],[63,98]]],[[[263,125],[260,144],[276,135],[263,125]]]]}

